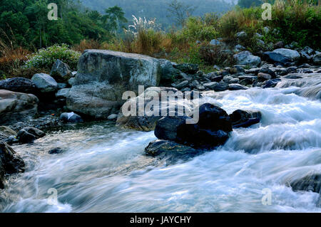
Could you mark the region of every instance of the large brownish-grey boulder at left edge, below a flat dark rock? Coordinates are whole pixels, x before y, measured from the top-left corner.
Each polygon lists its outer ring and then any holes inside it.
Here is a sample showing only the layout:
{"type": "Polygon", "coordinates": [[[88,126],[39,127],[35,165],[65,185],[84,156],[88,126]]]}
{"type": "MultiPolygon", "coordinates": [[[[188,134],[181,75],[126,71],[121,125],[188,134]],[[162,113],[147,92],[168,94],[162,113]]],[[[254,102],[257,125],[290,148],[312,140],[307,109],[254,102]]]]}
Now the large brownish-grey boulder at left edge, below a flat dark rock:
{"type": "Polygon", "coordinates": [[[35,95],[0,90],[0,124],[32,117],[37,112],[38,102],[35,95]]]}

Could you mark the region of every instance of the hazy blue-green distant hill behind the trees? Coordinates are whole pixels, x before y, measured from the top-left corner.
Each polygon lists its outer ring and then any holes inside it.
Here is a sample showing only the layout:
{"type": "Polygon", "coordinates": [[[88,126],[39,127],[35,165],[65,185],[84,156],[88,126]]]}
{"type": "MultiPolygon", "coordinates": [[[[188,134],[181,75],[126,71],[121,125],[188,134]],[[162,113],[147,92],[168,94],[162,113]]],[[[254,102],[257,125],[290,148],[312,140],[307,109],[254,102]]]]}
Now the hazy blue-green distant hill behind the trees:
{"type": "MultiPolygon", "coordinates": [[[[205,13],[223,13],[233,8],[237,1],[233,0],[181,0],[184,4],[196,6],[193,15],[202,16],[205,13]]],[[[168,4],[170,0],[81,0],[84,6],[89,9],[104,12],[111,6],[120,6],[125,12],[126,18],[131,21],[132,15],[136,17],[146,17],[146,19],[156,18],[163,27],[173,24],[168,18],[168,4]]]]}

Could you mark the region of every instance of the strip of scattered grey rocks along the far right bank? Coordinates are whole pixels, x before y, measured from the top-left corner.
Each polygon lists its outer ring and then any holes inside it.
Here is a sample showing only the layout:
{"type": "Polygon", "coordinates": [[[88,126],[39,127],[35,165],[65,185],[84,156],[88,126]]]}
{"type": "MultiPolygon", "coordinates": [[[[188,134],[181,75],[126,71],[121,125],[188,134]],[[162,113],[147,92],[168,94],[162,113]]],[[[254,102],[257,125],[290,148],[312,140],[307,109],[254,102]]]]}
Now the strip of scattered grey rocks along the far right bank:
{"type": "MultiPolygon", "coordinates": [[[[198,70],[197,65],[173,63],[172,68],[179,68],[180,73],[176,72],[178,79],[171,86],[182,91],[214,90],[215,92],[246,90],[251,87],[273,88],[283,76],[295,78],[297,75],[293,73],[314,73],[313,68],[317,70],[317,66],[309,63],[320,65],[321,53],[309,47],[303,48],[300,53],[287,48],[277,48],[263,53],[263,56],[266,62],[261,61],[258,56],[253,56],[249,51],[242,51],[234,55],[238,65],[223,69],[215,65],[219,70],[212,73],[203,73],[198,70]]],[[[167,65],[167,68],[170,66],[167,65]]]]}

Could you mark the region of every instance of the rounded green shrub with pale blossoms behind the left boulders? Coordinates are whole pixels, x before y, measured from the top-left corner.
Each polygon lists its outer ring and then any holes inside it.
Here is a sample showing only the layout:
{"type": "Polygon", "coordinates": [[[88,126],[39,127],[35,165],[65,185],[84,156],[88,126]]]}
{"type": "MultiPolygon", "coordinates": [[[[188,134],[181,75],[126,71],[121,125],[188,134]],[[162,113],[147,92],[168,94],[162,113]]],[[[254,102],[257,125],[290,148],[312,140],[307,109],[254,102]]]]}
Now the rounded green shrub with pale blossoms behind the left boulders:
{"type": "Polygon", "coordinates": [[[48,48],[41,48],[39,51],[29,56],[29,60],[26,61],[24,67],[51,69],[55,61],[60,59],[74,70],[77,68],[80,56],[81,53],[71,50],[66,44],[62,44],[61,46],[55,44],[48,48]]]}

